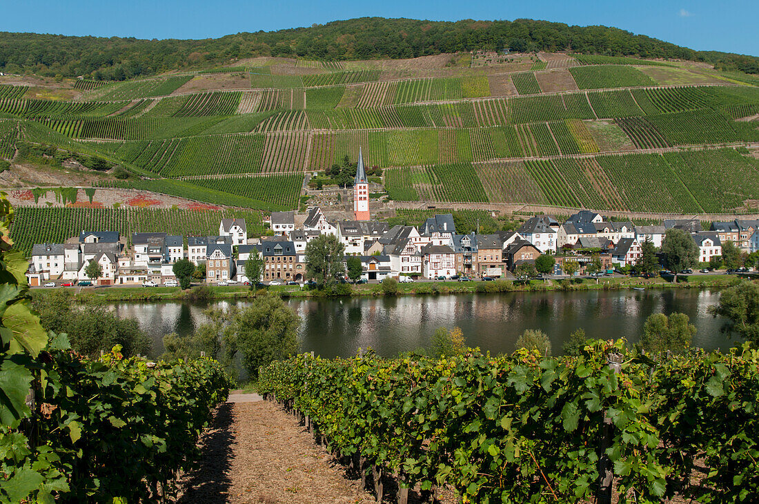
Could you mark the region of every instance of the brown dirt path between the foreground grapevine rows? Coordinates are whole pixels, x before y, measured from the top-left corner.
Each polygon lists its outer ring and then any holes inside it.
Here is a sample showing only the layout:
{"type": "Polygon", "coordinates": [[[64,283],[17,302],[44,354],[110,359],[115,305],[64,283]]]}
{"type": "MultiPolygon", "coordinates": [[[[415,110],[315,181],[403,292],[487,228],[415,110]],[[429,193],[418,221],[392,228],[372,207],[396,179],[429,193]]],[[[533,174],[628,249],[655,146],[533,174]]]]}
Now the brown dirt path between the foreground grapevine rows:
{"type": "Polygon", "coordinates": [[[180,502],[374,502],[296,418],[269,401],[228,402],[203,437],[180,502]]]}

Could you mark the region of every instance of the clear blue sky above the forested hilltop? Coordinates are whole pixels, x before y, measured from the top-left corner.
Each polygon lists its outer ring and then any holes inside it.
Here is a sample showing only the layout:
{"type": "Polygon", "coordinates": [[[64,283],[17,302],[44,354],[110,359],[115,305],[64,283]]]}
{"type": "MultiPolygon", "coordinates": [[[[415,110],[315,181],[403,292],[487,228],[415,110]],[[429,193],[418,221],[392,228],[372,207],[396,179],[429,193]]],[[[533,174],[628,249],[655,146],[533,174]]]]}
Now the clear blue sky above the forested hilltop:
{"type": "Polygon", "coordinates": [[[429,20],[530,17],[582,26],[619,27],[692,49],[759,55],[757,0],[0,0],[0,12],[0,31],[140,39],[216,38],[229,33],[307,27],[364,16],[429,20]]]}

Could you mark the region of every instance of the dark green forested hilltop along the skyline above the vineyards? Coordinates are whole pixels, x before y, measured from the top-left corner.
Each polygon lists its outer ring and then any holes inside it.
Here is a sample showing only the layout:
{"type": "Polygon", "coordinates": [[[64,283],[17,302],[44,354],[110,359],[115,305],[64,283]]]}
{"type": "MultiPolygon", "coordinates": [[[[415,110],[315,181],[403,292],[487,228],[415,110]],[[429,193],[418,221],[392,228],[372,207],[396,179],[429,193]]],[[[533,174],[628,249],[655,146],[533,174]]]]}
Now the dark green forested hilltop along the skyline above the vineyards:
{"type": "Polygon", "coordinates": [[[362,17],[308,28],[238,33],[219,39],[142,40],[0,33],[0,70],[47,77],[126,80],[169,70],[213,67],[244,58],[319,60],[415,58],[446,52],[568,51],[705,61],[720,70],[759,74],[759,58],[698,52],[611,27],[576,27],[520,19],[456,22],[362,17]]]}

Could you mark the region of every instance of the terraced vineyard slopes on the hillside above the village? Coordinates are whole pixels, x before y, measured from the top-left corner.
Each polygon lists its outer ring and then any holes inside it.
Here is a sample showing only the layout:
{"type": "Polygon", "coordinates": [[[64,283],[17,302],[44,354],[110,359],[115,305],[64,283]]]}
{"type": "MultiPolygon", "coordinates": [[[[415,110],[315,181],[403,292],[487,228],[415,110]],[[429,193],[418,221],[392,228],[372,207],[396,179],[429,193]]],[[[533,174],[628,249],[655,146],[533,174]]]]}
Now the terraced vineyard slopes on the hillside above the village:
{"type": "Polygon", "coordinates": [[[150,179],[115,186],[260,209],[297,207],[305,172],[359,147],[399,201],[717,212],[759,200],[757,162],[735,151],[759,144],[748,75],[543,53],[503,67],[264,64],[77,80],[80,94],[57,101],[0,84],[0,158],[17,139],[42,142],[150,179]]]}

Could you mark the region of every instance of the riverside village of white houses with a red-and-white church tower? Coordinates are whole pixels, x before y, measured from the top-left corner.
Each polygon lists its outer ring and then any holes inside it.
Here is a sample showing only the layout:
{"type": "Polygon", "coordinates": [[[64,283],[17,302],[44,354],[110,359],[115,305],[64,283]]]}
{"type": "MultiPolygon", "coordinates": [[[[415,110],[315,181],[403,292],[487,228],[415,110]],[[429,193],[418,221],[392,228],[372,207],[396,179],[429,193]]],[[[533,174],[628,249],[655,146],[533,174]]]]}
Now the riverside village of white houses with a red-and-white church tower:
{"type": "Polygon", "coordinates": [[[609,275],[640,261],[644,242],[660,248],[671,228],[690,233],[704,273],[723,255],[723,243],[732,242],[745,253],[759,251],[759,220],[713,222],[710,230],[702,230],[698,220],[635,226],[583,210],[563,223],[540,214],[528,218],[518,230],[489,234],[457,233],[452,214],[436,214],[419,227],[390,227],[371,220],[361,155],[353,210],[352,221],[329,220],[320,207],[309,208],[306,214],[273,211],[264,219],[270,230],[265,236],[249,236],[244,219],[221,219],[216,236],[192,236],[192,230],[187,230],[186,239],[159,230],[132,236],[82,230],[68,243],[35,244],[27,279],[30,286],[177,286],[173,265],[187,259],[197,267],[195,279],[209,284],[303,285],[310,280],[307,243],[325,234],[338,239],[345,258],[361,258],[361,283],[388,277],[402,282],[525,279],[536,276],[534,265],[540,255],[555,259],[553,271],[544,274],[609,275]],[[263,261],[261,278],[245,275],[244,264],[251,254],[263,261]],[[99,265],[96,277],[87,271],[92,261],[99,265]]]}

